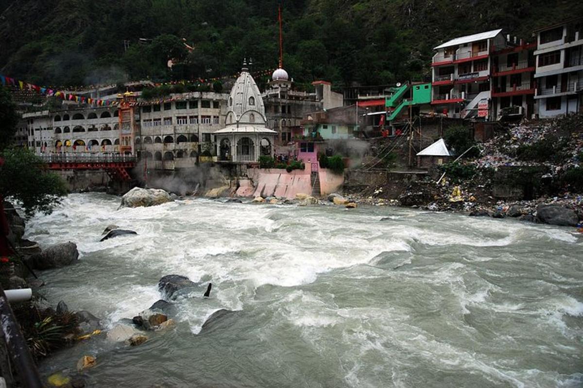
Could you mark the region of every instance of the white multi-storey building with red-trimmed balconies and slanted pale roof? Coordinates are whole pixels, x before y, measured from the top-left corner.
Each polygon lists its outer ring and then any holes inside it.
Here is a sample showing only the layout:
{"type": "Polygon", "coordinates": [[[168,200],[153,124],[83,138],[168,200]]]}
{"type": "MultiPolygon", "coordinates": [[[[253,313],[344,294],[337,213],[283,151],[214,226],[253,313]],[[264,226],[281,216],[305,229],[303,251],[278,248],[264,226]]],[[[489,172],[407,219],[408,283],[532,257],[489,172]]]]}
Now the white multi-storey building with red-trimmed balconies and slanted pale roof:
{"type": "Polygon", "coordinates": [[[491,54],[504,46],[502,30],[452,39],[434,49],[431,105],[452,118],[490,115],[491,54]]]}

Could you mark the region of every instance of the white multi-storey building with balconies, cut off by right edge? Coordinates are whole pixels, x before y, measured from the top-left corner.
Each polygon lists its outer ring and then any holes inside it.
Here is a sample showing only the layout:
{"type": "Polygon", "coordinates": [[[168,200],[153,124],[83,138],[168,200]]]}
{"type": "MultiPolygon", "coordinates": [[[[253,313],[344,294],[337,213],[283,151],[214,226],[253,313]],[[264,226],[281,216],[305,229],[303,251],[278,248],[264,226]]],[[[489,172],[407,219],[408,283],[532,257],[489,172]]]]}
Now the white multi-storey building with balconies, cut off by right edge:
{"type": "Polygon", "coordinates": [[[536,31],[537,90],[541,118],[583,108],[583,17],[536,31]]]}

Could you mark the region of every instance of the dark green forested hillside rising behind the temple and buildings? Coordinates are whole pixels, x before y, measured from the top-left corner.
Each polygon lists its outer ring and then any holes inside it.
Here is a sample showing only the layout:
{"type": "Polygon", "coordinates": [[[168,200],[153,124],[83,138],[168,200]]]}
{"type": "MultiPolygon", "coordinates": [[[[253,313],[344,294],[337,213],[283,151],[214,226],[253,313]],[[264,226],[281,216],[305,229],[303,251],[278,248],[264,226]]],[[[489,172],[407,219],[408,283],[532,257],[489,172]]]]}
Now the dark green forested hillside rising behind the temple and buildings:
{"type": "MultiPolygon", "coordinates": [[[[0,0],[0,72],[43,85],[194,79],[278,63],[277,0],[0,0]],[[145,39],[139,43],[139,39],[145,39]],[[188,52],[182,38],[194,50],[188,52]],[[129,48],[124,47],[129,42],[129,48]],[[168,58],[180,60],[169,72],[168,58]]],[[[283,0],[284,67],[336,85],[423,80],[432,47],[503,28],[530,38],[581,1],[283,0]]]]}

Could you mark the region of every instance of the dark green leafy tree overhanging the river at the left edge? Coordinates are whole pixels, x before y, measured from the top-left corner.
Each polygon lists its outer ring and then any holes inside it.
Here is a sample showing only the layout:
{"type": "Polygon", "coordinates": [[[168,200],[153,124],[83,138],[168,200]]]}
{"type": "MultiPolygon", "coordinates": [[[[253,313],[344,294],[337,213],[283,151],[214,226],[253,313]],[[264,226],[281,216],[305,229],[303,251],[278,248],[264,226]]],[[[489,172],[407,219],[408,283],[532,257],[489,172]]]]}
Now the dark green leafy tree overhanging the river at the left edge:
{"type": "Polygon", "coordinates": [[[0,198],[19,201],[27,216],[51,209],[66,194],[65,183],[25,148],[9,148],[19,116],[10,94],[0,87],[0,198]]]}

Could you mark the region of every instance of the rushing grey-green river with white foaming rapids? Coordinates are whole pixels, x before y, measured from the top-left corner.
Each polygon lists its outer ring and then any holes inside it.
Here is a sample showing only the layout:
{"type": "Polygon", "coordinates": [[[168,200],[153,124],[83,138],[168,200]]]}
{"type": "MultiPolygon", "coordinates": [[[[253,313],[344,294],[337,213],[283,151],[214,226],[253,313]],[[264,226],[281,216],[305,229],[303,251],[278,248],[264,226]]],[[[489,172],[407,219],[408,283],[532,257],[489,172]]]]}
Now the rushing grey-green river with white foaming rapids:
{"type": "Polygon", "coordinates": [[[138,347],[96,337],[41,364],[97,366],[90,386],[576,387],[583,384],[583,238],[515,220],[398,208],[225,204],[118,209],[72,194],[27,237],[74,241],[42,274],[53,304],[110,328],[177,273],[212,282],[138,347]],[[115,224],[138,236],[99,242],[115,224]],[[236,314],[199,333],[220,308],[236,314]]]}

